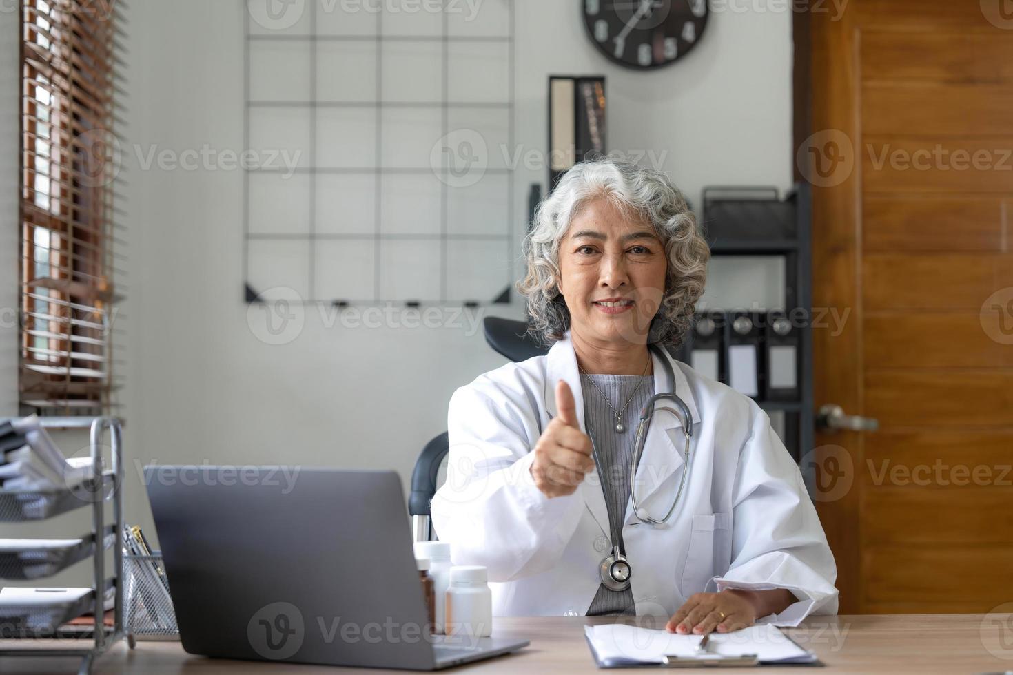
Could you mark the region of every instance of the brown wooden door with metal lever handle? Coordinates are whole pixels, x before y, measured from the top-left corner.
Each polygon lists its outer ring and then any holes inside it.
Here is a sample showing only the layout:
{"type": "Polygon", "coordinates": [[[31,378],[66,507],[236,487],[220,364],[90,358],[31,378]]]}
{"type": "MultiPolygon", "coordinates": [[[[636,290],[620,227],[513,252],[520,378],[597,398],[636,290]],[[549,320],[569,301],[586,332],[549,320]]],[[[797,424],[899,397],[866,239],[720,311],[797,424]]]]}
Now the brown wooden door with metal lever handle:
{"type": "Polygon", "coordinates": [[[849,312],[813,327],[815,405],[879,422],[811,455],[842,613],[1013,600],[1011,10],[808,16],[813,307],[849,312]]]}

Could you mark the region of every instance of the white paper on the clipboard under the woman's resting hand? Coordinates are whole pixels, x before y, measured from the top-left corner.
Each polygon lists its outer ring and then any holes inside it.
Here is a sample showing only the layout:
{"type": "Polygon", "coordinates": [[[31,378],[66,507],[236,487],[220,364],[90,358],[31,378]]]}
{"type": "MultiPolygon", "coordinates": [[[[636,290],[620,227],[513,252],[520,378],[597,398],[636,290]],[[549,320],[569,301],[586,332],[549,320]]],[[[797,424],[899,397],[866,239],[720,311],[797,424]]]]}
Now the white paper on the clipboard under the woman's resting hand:
{"type": "Polygon", "coordinates": [[[666,655],[718,660],[755,654],[763,664],[816,662],[815,655],[791,642],[769,623],[732,632],[712,632],[706,654],[697,652],[700,636],[681,636],[664,629],[607,623],[585,626],[585,636],[602,668],[660,664],[666,655]]]}

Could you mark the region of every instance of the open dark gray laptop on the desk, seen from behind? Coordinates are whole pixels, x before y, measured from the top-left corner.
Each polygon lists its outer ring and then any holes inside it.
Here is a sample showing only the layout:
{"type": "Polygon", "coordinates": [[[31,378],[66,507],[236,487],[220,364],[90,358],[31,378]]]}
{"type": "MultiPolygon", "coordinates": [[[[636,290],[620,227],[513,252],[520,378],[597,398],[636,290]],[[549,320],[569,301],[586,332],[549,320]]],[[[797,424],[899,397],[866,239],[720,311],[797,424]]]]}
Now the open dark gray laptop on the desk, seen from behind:
{"type": "Polygon", "coordinates": [[[431,636],[394,472],[146,467],[189,654],[439,670],[527,640],[431,636]]]}

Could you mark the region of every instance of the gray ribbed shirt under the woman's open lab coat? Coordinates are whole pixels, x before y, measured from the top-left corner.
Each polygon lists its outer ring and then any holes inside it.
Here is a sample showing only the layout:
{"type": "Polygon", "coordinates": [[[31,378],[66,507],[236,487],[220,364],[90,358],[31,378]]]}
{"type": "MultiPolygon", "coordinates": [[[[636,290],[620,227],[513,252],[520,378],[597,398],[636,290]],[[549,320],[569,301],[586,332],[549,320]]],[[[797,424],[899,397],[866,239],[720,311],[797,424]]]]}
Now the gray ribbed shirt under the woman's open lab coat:
{"type": "MultiPolygon", "coordinates": [[[[583,394],[583,405],[587,412],[588,434],[595,444],[601,471],[602,488],[605,493],[605,504],[609,510],[609,519],[619,530],[619,545],[622,546],[622,523],[626,516],[626,504],[630,498],[630,461],[633,458],[633,441],[636,438],[636,423],[640,409],[653,396],[653,375],[610,375],[580,374],[580,391],[583,394]],[[598,385],[596,388],[595,385],[598,385]],[[599,389],[601,392],[599,392],[599,389]],[[635,392],[634,392],[635,390],[635,392]],[[604,394],[608,401],[602,398],[604,394]],[[616,431],[617,411],[622,409],[632,395],[629,405],[620,418],[625,430],[616,431]],[[609,406],[612,404],[612,407],[609,406]]],[[[606,530],[606,538],[611,537],[609,523],[602,523],[606,530]]],[[[625,553],[625,547],[623,552],[625,553]]],[[[603,553],[602,557],[609,555],[603,553]]],[[[588,608],[588,616],[602,614],[636,614],[633,604],[632,587],[617,592],[601,584],[598,593],[588,608]]]]}

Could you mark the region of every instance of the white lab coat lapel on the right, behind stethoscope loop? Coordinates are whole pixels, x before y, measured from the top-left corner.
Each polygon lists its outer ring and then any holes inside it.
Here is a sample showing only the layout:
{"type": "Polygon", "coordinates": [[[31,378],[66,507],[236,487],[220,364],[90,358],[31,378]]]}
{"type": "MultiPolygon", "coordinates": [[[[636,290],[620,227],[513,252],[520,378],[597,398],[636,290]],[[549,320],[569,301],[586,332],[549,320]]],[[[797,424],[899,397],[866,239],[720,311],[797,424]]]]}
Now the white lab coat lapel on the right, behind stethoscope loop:
{"type": "MultiPolygon", "coordinates": [[[[669,379],[666,367],[660,360],[663,357],[651,352],[651,358],[654,362],[654,394],[675,390],[676,394],[689,409],[692,423],[696,424],[700,421],[700,413],[697,411],[696,400],[690,391],[686,375],[679,367],[679,364],[668,355],[668,351],[664,348],[663,351],[666,352],[664,358],[668,358],[669,364],[672,366],[675,383],[669,379]]],[[[655,409],[666,407],[673,406],[671,402],[665,400],[655,404],[655,409]]],[[[639,416],[640,411],[637,411],[637,424],[639,424],[639,416]]],[[[668,506],[663,505],[665,509],[661,509],[661,507],[649,508],[652,504],[650,500],[651,495],[657,492],[666,479],[679,471],[684,463],[683,449],[685,447],[685,437],[682,427],[682,420],[678,416],[664,410],[657,410],[650,420],[650,430],[644,439],[643,453],[640,455],[640,462],[636,469],[636,499],[637,504],[641,508],[647,507],[651,516],[655,518],[664,516],[668,506]]],[[[691,428],[691,430],[695,429],[691,428]]],[[[634,434],[636,433],[635,428],[632,431],[634,434]]],[[[690,447],[693,447],[692,438],[690,447]]],[[[626,504],[624,526],[634,522],[633,515],[633,499],[631,496],[626,504]]]]}

